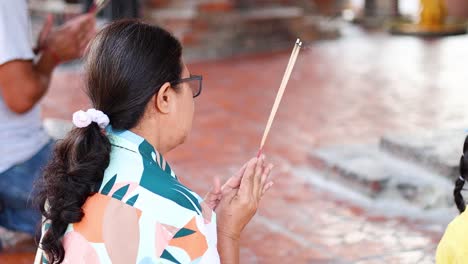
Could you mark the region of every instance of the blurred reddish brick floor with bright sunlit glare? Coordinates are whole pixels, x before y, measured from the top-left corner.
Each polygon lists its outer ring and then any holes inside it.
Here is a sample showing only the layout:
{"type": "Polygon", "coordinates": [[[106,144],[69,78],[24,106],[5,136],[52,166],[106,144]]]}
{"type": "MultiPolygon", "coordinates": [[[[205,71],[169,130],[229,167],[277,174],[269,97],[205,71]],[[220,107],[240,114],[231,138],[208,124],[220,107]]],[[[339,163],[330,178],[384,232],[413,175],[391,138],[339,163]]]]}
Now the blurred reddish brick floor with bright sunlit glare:
{"type": "MultiPolygon", "coordinates": [[[[421,40],[347,29],[298,59],[265,152],[275,185],[243,235],[242,263],[432,263],[441,231],[431,223],[375,216],[308,183],[292,168],[330,144],[468,124],[467,37],[421,40]]],[[[193,63],[204,75],[189,141],[168,155],[182,180],[204,193],[256,154],[289,52],[193,63]]],[[[81,72],[59,70],[44,116],[87,107],[81,72]]],[[[0,256],[21,263],[32,254],[0,256]]]]}

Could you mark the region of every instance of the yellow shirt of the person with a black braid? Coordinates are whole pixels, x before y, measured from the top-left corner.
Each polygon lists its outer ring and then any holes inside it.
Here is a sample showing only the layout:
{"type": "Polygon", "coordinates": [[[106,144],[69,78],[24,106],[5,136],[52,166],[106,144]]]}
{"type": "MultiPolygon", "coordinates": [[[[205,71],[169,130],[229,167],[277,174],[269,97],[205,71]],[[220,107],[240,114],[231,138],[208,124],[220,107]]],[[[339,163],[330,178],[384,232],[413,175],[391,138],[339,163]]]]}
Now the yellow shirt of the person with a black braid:
{"type": "Polygon", "coordinates": [[[468,212],[457,216],[445,230],[437,247],[437,264],[468,263],[468,212]]]}

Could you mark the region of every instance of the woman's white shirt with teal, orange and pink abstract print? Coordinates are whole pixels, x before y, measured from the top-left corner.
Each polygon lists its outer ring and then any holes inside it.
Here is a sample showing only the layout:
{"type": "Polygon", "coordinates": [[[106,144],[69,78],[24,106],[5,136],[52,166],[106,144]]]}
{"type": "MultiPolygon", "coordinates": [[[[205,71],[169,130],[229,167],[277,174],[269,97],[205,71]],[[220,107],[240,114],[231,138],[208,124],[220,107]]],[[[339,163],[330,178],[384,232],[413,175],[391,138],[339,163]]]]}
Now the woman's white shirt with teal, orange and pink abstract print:
{"type": "Polygon", "coordinates": [[[220,263],[211,208],[146,140],[107,130],[110,164],[65,232],[64,263],[220,263]]]}

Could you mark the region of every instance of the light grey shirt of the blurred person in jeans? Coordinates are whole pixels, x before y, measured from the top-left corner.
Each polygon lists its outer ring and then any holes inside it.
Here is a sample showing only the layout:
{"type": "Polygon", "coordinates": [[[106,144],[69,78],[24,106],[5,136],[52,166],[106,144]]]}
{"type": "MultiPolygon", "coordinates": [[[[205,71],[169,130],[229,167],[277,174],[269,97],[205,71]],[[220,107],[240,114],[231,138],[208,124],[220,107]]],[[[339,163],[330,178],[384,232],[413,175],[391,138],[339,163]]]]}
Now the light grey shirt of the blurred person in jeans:
{"type": "MultiPolygon", "coordinates": [[[[30,23],[26,0],[0,0],[0,66],[34,58],[30,23]]],[[[33,157],[49,140],[39,105],[16,114],[0,93],[0,173],[33,157]]]]}

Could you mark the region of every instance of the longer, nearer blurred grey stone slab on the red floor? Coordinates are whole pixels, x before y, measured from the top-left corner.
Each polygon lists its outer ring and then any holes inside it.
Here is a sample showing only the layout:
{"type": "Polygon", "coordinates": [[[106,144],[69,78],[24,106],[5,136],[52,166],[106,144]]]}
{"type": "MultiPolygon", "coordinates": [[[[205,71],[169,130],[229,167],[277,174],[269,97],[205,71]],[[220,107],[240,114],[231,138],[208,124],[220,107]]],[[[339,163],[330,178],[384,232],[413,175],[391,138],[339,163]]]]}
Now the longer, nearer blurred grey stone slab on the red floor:
{"type": "Polygon", "coordinates": [[[378,145],[329,147],[311,152],[309,159],[326,180],[373,199],[401,200],[423,209],[452,206],[449,180],[378,145]]]}

